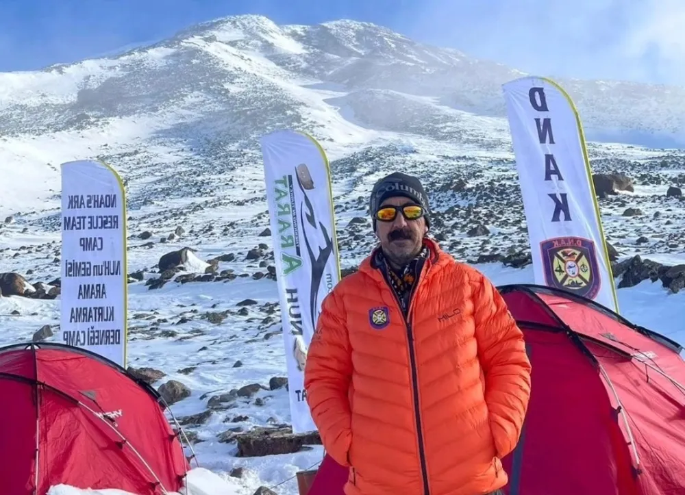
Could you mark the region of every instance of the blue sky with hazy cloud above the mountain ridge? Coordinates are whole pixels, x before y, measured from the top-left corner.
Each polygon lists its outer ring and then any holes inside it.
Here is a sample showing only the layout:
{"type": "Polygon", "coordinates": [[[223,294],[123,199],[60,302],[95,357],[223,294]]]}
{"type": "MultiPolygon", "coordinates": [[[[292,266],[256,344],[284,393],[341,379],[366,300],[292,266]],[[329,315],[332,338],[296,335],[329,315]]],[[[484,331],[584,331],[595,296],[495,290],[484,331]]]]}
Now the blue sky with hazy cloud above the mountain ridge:
{"type": "Polygon", "coordinates": [[[685,0],[0,0],[0,71],[74,62],[245,13],[370,21],[552,77],[685,85],[685,0]]]}

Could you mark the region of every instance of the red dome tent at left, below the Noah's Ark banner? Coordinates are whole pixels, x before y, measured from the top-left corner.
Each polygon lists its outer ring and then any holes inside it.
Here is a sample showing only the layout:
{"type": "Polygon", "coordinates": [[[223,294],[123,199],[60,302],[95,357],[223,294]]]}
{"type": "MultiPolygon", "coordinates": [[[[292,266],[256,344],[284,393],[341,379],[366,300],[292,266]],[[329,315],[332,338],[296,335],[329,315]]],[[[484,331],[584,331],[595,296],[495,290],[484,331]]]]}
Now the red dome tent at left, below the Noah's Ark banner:
{"type": "Polygon", "coordinates": [[[161,397],[108,359],[64,344],[0,348],[0,396],[3,493],[183,486],[188,464],[161,397]]]}

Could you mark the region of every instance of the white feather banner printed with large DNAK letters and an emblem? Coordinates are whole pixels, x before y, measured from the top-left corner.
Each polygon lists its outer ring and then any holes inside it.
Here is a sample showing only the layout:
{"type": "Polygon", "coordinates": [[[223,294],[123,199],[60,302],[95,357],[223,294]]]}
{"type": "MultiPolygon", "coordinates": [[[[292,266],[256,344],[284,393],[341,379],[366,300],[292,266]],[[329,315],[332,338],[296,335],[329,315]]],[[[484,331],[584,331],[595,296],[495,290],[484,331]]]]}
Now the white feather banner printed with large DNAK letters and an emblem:
{"type": "Polygon", "coordinates": [[[502,86],[535,283],[619,311],[580,116],[544,77],[502,86]]]}

